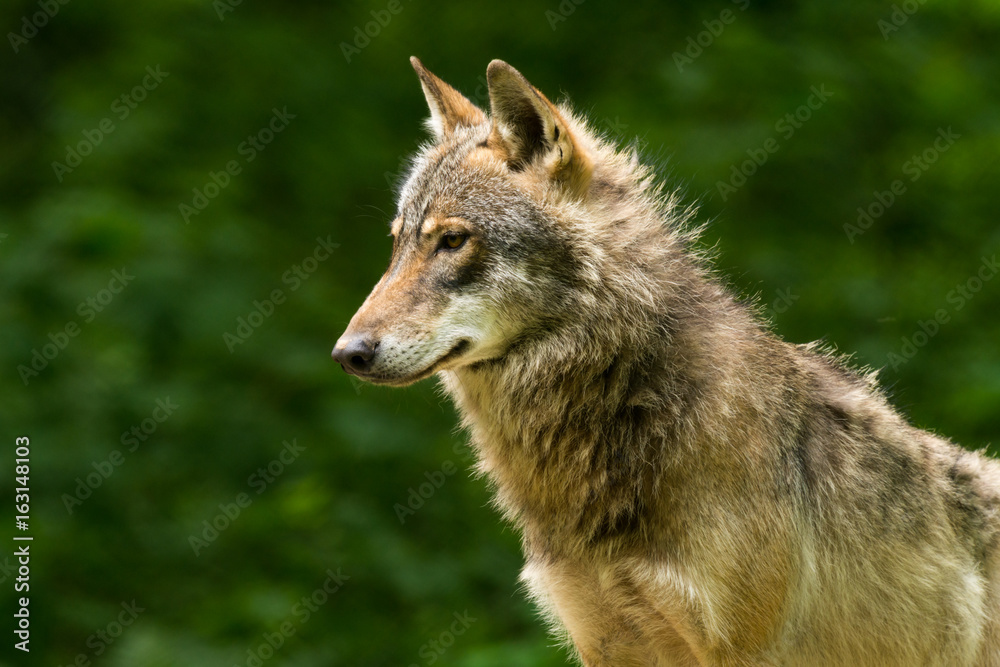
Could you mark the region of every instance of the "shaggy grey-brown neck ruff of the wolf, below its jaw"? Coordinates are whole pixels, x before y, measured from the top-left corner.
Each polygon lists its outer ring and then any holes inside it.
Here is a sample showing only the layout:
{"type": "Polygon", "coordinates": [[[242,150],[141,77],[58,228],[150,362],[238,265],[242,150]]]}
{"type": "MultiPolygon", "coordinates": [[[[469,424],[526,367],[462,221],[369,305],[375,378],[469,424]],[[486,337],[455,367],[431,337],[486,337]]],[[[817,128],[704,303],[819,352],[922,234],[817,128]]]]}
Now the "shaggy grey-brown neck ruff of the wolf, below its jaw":
{"type": "Polygon", "coordinates": [[[767,336],[693,261],[673,259],[642,286],[659,302],[609,287],[581,309],[597,313],[588,321],[442,373],[497,505],[534,550],[632,539],[675,473],[700,465],[704,441],[727,437],[706,411],[739,384],[737,350],[767,336]]]}

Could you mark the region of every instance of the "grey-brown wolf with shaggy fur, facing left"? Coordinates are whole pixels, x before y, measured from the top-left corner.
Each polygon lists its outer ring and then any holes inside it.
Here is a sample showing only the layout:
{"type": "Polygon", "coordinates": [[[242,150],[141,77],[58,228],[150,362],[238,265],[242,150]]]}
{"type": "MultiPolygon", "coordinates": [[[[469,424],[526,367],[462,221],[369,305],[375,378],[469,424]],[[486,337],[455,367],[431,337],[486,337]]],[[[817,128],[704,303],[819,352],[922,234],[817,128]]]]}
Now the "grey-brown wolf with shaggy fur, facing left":
{"type": "Polygon", "coordinates": [[[437,376],[579,661],[1000,665],[1000,466],[771,333],[690,207],[510,65],[488,115],[413,66],[434,140],[333,356],[437,376]]]}

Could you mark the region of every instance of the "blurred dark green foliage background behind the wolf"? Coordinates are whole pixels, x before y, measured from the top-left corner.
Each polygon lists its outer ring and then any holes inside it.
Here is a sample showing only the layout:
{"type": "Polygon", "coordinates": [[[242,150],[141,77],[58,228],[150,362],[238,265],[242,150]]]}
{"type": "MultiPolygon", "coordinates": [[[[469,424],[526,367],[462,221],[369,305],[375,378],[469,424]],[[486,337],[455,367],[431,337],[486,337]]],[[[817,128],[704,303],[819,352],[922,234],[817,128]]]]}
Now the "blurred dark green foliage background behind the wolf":
{"type": "Polygon", "coordinates": [[[413,54],[481,104],[492,58],[571,95],[700,202],[780,334],[883,367],[923,427],[1000,435],[1000,277],[973,280],[1000,252],[994,0],[18,0],[0,27],[3,664],[565,664],[434,383],[329,359],[425,137],[413,54]]]}

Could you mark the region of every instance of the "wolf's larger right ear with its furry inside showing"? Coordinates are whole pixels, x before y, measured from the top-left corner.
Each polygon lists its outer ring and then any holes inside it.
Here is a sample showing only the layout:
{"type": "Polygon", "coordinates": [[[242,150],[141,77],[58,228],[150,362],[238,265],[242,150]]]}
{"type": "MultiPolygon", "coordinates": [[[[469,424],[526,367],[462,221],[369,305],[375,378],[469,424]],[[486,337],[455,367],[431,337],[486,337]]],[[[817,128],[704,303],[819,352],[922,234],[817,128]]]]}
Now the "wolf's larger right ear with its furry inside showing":
{"type": "Polygon", "coordinates": [[[514,170],[541,156],[553,180],[582,195],[593,165],[556,106],[502,60],[490,63],[486,82],[493,117],[490,145],[514,170]]]}

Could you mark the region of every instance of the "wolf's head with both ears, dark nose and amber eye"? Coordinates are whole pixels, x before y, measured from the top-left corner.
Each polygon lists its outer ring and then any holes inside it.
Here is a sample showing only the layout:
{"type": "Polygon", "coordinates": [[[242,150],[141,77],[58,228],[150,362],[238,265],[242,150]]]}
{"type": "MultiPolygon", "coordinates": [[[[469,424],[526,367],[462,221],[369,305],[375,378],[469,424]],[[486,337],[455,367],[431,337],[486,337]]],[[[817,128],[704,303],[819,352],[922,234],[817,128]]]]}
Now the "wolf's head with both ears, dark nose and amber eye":
{"type": "Polygon", "coordinates": [[[401,189],[389,268],[333,349],[347,372],[397,386],[500,360],[588,305],[609,255],[642,243],[623,193],[648,181],[507,63],[487,69],[487,117],[411,62],[435,141],[401,189]]]}

